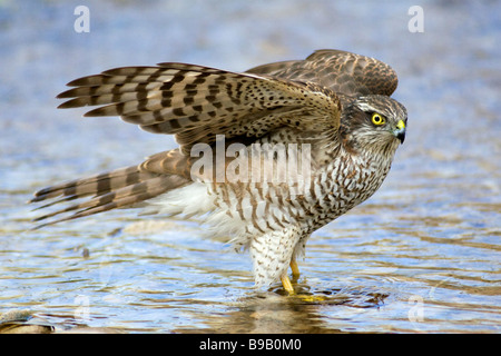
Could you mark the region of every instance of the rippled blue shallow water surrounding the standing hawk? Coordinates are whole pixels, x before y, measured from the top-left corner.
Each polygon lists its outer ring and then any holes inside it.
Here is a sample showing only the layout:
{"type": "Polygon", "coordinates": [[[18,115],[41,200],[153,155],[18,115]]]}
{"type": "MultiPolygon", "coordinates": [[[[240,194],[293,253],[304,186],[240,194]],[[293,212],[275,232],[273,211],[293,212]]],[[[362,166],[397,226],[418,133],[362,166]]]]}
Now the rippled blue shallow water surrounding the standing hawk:
{"type": "Polygon", "coordinates": [[[0,2],[0,313],[56,332],[500,332],[499,1],[423,1],[423,33],[406,1],[88,3],[90,32],[76,33],[73,4],[0,2]],[[310,240],[303,297],[255,290],[248,256],[195,221],[120,210],[30,230],[32,191],[175,145],[56,110],[67,81],[161,61],[245,70],[320,48],[394,67],[409,131],[376,195],[310,240]]]}

